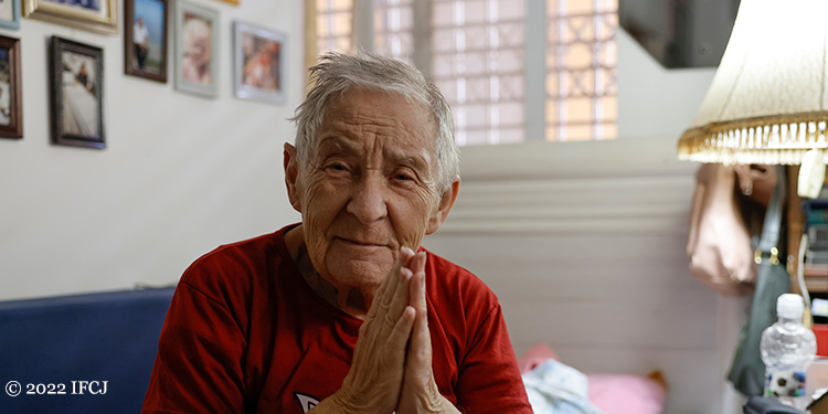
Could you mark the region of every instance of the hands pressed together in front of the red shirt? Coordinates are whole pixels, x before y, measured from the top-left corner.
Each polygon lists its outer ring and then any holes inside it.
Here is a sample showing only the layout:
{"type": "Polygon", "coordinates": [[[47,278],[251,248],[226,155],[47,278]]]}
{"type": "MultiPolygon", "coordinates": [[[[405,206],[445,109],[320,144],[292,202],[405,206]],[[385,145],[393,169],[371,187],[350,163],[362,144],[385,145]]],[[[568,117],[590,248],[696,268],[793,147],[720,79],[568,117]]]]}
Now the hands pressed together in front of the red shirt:
{"type": "Polygon", "coordinates": [[[400,252],[360,328],[342,388],[314,413],[459,413],[432,372],[425,252],[400,252]]]}

